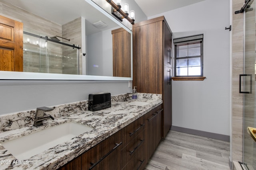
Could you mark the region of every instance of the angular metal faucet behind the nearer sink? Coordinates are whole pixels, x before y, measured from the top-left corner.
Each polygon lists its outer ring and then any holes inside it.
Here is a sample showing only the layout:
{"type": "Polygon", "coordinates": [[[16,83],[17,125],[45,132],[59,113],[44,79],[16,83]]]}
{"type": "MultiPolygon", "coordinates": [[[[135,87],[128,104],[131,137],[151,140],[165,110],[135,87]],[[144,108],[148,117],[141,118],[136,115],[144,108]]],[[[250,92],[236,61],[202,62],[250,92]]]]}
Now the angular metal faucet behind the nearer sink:
{"type": "Polygon", "coordinates": [[[52,115],[46,115],[46,111],[52,111],[53,108],[50,107],[38,107],[36,108],[36,117],[33,126],[37,127],[40,125],[43,125],[43,120],[51,118],[54,120],[54,117],[52,115]]]}

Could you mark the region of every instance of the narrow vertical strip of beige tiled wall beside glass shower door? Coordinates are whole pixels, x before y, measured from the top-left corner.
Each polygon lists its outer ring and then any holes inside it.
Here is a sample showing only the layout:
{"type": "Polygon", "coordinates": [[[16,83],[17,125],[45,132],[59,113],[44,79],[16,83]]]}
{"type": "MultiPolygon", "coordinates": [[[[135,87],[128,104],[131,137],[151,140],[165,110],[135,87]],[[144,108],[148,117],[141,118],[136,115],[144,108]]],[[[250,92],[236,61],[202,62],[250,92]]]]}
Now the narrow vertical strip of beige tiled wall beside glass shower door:
{"type": "Polygon", "coordinates": [[[243,14],[234,14],[244,0],[232,0],[232,141],[233,161],[242,161],[243,94],[239,93],[239,74],[243,73],[243,14]]]}

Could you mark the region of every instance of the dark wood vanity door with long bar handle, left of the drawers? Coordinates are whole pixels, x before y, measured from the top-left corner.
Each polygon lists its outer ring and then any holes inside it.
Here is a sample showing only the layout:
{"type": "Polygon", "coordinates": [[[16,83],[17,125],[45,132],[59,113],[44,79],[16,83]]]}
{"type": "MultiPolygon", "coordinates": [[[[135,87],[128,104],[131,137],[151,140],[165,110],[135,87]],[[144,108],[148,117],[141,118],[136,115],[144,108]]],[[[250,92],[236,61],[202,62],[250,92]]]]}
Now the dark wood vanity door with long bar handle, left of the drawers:
{"type": "Polygon", "coordinates": [[[120,131],[82,154],[82,170],[120,170],[120,131]]]}

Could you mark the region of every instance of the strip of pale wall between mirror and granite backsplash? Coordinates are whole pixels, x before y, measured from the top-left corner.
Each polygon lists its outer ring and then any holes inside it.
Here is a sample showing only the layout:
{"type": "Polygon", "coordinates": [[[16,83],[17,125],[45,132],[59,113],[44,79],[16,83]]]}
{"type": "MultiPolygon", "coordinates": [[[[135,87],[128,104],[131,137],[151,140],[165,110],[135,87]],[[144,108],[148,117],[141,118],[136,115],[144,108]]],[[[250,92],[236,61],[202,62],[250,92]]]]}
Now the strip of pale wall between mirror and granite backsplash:
{"type": "Polygon", "coordinates": [[[131,91],[128,81],[0,80],[0,115],[88,100],[90,93],[131,91]]]}

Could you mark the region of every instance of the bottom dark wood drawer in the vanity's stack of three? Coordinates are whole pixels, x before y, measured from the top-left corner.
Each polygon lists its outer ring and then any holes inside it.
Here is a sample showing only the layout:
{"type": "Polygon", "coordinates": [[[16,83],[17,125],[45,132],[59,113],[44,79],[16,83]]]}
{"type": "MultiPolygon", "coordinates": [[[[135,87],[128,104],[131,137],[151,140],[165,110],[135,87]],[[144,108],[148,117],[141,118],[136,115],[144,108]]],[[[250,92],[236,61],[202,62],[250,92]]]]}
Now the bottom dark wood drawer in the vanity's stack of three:
{"type": "Polygon", "coordinates": [[[126,164],[126,166],[122,170],[143,170],[145,166],[145,145],[142,144],[140,150],[134,154],[132,159],[126,164]]]}

